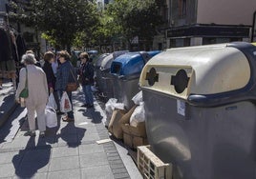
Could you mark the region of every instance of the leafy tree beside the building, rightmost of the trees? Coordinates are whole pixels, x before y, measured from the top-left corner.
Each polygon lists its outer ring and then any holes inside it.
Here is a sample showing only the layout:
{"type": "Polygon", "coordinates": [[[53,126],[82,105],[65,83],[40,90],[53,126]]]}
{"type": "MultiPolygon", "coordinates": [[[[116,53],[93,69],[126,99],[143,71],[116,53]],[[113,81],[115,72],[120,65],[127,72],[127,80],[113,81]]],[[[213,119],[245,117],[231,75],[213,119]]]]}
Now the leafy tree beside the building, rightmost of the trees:
{"type": "Polygon", "coordinates": [[[132,48],[135,37],[139,38],[139,50],[149,50],[156,28],[161,23],[156,1],[116,0],[110,4],[108,14],[114,18],[118,33],[132,48]]]}

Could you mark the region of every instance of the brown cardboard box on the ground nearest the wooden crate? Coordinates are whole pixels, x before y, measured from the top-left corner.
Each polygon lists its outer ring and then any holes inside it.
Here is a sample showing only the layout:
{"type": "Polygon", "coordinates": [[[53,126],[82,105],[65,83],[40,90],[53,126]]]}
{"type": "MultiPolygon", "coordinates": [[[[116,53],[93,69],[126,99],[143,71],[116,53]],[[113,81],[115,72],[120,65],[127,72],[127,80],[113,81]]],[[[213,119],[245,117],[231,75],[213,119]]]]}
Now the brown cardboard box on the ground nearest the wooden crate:
{"type": "Polygon", "coordinates": [[[122,124],[123,142],[132,149],[139,146],[147,145],[145,122],[139,123],[137,127],[129,124],[122,124]]]}

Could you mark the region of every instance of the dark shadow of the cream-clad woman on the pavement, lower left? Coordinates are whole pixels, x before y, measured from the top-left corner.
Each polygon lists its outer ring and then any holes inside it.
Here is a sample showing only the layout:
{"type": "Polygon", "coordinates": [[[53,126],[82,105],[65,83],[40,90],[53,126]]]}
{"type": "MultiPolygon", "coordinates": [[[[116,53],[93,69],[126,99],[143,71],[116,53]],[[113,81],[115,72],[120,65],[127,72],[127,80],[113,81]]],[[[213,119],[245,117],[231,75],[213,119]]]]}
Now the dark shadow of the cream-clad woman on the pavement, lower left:
{"type": "MultiPolygon", "coordinates": [[[[42,144],[39,137],[37,144],[42,144]]],[[[15,174],[19,178],[32,178],[37,171],[47,171],[51,154],[51,146],[35,146],[35,137],[31,137],[26,148],[20,149],[19,153],[13,156],[12,163],[15,174]]]]}

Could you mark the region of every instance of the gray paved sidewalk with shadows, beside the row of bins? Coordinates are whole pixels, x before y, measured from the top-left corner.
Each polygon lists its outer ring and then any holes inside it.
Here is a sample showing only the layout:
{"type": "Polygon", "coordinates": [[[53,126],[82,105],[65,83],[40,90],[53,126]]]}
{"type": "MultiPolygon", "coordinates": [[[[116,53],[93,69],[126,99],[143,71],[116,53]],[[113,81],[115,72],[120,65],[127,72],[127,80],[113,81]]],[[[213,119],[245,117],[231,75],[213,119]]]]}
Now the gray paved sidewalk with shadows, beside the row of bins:
{"type": "MultiPolygon", "coordinates": [[[[118,153],[114,141],[96,143],[109,139],[101,122],[105,114],[97,102],[95,109],[80,108],[82,99],[80,91],[74,93],[75,123],[59,120],[58,127],[41,138],[39,131],[35,137],[24,136],[25,120],[11,141],[0,141],[0,178],[142,178],[131,157],[118,153]]],[[[24,118],[24,109],[18,109],[23,114],[19,118],[24,118]]]]}

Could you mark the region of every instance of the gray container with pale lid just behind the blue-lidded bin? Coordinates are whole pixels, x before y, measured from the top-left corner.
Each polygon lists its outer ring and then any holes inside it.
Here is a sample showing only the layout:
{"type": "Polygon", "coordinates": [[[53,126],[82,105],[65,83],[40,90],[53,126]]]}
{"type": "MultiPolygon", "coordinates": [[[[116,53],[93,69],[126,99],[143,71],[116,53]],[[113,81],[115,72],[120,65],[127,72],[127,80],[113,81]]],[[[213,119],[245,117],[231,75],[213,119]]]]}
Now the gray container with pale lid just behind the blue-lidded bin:
{"type": "Polygon", "coordinates": [[[106,56],[101,62],[99,72],[97,74],[97,82],[99,84],[98,88],[108,99],[113,97],[113,80],[112,75],[110,74],[111,64],[117,56],[125,52],[127,52],[127,50],[114,51],[106,56]]]}

